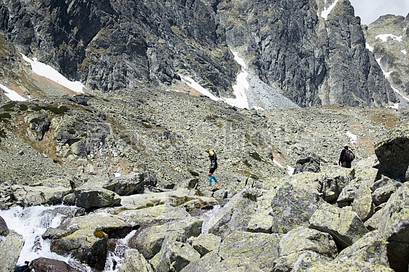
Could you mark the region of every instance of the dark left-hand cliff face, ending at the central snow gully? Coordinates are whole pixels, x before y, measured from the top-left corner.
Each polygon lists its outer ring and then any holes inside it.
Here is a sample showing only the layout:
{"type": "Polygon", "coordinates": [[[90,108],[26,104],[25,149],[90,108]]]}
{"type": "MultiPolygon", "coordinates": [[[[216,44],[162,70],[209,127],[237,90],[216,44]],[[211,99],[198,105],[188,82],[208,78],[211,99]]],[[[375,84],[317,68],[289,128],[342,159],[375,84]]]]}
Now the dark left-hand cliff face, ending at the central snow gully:
{"type": "Polygon", "coordinates": [[[239,69],[203,1],[13,0],[0,13],[23,53],[103,92],[169,85],[183,72],[218,94],[239,69]]]}

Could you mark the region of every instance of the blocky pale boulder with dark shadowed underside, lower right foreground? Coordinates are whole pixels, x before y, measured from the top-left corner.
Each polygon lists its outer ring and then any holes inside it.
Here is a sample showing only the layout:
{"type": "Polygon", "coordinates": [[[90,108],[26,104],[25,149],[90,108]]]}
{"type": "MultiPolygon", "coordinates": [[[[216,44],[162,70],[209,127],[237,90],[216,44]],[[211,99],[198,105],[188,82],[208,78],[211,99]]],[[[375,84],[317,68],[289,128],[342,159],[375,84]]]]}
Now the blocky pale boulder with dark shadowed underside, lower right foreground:
{"type": "Polygon", "coordinates": [[[368,229],[356,215],[356,212],[351,211],[348,207],[340,209],[326,203],[321,205],[311,216],[309,228],[333,236],[338,250],[349,247],[368,233],[368,229]]]}

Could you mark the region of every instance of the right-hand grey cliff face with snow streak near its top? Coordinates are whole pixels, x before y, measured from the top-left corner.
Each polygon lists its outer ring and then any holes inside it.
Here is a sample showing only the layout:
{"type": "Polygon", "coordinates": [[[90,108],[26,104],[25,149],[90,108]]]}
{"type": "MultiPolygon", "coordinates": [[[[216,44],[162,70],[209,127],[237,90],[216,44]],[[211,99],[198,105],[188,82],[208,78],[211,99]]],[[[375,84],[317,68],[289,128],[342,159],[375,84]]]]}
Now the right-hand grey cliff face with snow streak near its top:
{"type": "Polygon", "coordinates": [[[228,1],[219,8],[227,42],[300,106],[395,99],[349,1],[228,1]]]}

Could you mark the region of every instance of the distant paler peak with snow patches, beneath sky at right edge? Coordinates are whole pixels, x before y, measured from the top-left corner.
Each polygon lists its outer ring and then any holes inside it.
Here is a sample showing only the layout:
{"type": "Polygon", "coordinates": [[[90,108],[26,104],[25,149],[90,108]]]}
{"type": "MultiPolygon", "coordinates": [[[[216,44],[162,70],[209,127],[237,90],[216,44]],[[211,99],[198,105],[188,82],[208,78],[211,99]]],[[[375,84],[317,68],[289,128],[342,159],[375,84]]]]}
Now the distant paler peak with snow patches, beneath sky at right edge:
{"type": "Polygon", "coordinates": [[[368,47],[387,74],[391,85],[409,96],[409,14],[384,15],[365,27],[368,47]]]}

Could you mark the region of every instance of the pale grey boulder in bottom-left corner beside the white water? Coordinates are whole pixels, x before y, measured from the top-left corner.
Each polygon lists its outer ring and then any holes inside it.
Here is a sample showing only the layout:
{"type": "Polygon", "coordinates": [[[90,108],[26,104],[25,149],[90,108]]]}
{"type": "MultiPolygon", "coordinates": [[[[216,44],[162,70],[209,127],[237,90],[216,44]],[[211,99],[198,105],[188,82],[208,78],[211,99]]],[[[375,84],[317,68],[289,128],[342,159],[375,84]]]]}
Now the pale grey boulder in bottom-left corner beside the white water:
{"type": "Polygon", "coordinates": [[[14,271],[17,264],[20,252],[25,243],[21,234],[10,231],[8,236],[4,237],[0,241],[0,264],[1,271],[11,272],[14,271]]]}

